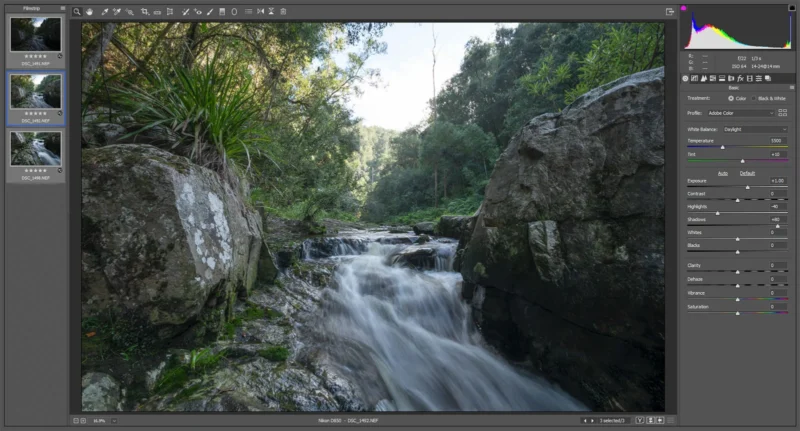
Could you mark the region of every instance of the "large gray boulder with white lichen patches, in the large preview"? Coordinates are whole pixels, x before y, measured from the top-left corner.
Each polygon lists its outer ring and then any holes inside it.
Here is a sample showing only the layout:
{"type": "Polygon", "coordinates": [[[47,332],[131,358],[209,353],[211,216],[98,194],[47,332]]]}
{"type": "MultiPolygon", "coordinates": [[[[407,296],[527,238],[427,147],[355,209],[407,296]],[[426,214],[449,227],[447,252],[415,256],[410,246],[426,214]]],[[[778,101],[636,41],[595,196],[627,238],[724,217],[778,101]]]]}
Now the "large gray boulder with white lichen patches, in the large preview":
{"type": "Polygon", "coordinates": [[[214,172],[149,145],[84,150],[81,183],[83,317],[214,336],[257,276],[258,214],[214,172]]]}

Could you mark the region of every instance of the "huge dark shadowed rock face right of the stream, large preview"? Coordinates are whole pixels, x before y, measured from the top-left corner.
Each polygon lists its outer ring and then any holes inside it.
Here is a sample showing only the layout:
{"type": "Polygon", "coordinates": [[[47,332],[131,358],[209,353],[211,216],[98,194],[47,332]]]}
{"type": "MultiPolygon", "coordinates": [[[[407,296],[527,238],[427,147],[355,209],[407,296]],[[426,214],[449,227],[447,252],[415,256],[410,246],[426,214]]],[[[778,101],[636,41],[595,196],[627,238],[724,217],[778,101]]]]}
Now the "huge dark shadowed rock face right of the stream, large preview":
{"type": "Polygon", "coordinates": [[[486,339],[596,410],[664,408],[663,69],[531,120],[460,252],[486,339]]]}

